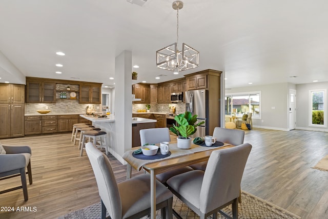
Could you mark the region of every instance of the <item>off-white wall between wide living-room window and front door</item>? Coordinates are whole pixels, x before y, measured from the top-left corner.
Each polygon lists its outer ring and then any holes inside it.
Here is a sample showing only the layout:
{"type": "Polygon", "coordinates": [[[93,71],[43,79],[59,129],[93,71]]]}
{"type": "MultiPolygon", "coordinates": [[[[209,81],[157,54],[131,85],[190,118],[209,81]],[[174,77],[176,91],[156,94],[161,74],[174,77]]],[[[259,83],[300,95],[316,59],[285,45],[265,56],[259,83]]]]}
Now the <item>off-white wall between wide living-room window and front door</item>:
{"type": "Polygon", "coordinates": [[[261,118],[253,118],[253,127],[288,131],[289,83],[239,87],[227,93],[261,91],[261,118]]]}

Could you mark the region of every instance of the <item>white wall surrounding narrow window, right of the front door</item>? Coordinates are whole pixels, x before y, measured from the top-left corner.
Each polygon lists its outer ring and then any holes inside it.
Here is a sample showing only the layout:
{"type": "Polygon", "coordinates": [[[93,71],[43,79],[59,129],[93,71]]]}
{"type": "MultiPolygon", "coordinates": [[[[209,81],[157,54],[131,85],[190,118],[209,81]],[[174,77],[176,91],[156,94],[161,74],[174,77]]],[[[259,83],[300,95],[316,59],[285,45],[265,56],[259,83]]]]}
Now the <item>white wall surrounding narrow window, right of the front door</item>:
{"type": "MultiPolygon", "coordinates": [[[[324,127],[309,126],[309,113],[310,113],[310,100],[309,90],[327,89],[328,82],[322,83],[309,83],[296,85],[296,128],[313,131],[328,131],[324,127]]],[[[328,95],[327,95],[328,96],[328,95]]],[[[326,103],[328,103],[328,97],[325,97],[326,103]]],[[[326,106],[328,106],[326,104],[326,106]]],[[[327,110],[327,109],[325,109],[327,110]]]]}

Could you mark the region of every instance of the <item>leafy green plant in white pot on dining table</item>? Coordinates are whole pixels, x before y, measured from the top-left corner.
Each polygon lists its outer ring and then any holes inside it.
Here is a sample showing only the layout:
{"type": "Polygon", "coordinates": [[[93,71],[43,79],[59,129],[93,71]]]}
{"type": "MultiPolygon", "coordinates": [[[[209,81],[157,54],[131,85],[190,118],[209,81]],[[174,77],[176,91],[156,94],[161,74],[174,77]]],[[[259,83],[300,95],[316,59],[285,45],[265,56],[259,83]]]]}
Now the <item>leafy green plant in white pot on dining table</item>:
{"type": "Polygon", "coordinates": [[[170,130],[176,134],[177,146],[178,148],[189,149],[191,148],[191,138],[190,135],[194,134],[197,126],[204,124],[205,122],[197,123],[197,115],[192,115],[191,112],[186,111],[185,113],[180,113],[174,117],[177,122],[177,126],[173,124],[170,130]]]}

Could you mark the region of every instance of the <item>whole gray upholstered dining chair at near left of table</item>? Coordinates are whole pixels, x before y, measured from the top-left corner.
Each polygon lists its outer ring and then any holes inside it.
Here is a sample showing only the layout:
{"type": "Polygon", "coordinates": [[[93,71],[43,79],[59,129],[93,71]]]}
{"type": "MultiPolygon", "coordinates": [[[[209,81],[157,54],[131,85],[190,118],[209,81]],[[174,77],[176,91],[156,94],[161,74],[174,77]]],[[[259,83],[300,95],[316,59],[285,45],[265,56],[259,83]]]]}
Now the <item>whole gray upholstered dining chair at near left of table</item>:
{"type": "MultiPolygon", "coordinates": [[[[111,218],[140,218],[150,214],[150,175],[142,174],[116,183],[108,157],[93,143],[86,144],[86,151],[96,178],[101,198],[101,218],[106,210],[111,218]]],[[[161,209],[162,218],[172,218],[173,194],[156,181],[156,210],[161,209]]]]}

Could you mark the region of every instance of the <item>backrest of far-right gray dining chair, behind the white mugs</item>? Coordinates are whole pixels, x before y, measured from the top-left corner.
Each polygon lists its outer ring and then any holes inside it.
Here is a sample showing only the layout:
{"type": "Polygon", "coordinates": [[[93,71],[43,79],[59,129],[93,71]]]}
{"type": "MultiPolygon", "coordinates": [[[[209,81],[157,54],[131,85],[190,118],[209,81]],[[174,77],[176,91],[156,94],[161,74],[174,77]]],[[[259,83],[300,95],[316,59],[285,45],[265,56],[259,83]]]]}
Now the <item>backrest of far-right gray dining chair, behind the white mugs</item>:
{"type": "Polygon", "coordinates": [[[232,144],[235,146],[244,143],[244,135],[244,131],[236,129],[215,127],[213,131],[213,137],[216,138],[216,141],[232,144]]]}

